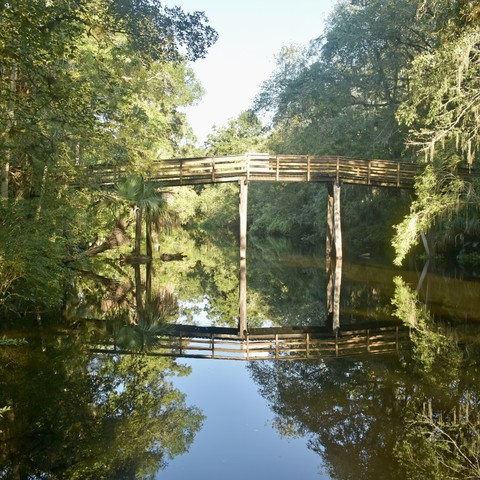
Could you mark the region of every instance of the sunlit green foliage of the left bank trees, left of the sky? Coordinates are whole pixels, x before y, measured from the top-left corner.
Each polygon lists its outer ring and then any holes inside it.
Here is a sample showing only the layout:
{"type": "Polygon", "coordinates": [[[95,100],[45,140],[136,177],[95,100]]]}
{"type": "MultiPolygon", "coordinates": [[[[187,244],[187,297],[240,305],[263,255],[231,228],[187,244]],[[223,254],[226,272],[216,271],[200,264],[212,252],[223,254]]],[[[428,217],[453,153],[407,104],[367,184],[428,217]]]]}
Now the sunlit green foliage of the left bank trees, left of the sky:
{"type": "Polygon", "coordinates": [[[186,61],[216,38],[203,13],[158,1],[2,4],[2,301],[61,299],[63,260],[108,235],[96,193],[67,184],[95,187],[89,168],[141,173],[184,149],[179,107],[201,95],[186,61]]]}

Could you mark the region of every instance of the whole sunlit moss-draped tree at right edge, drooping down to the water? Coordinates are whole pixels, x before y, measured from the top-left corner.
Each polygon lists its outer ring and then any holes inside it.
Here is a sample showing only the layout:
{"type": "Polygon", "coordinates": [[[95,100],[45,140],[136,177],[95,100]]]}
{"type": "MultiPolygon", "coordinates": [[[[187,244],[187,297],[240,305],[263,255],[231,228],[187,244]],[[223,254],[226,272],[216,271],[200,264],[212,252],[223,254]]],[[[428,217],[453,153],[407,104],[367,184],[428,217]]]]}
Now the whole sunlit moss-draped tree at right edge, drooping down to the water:
{"type": "Polygon", "coordinates": [[[431,248],[455,251],[463,240],[478,238],[478,181],[459,176],[458,167],[475,168],[479,143],[480,23],[475,2],[424,2],[420,18],[431,17],[436,33],[432,48],[413,60],[411,91],[398,111],[410,128],[409,144],[432,167],[416,185],[417,201],[393,240],[400,263],[420,234],[431,248]],[[433,238],[432,238],[433,237],[433,238]]]}

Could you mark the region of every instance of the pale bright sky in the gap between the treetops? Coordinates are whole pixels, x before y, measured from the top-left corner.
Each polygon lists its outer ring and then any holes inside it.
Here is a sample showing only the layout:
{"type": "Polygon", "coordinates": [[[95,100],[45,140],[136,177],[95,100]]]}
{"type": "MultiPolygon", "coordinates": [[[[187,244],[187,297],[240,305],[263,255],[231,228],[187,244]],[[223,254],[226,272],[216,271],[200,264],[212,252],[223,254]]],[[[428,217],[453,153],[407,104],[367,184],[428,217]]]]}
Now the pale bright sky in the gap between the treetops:
{"type": "Polygon", "coordinates": [[[167,0],[165,6],[203,11],[219,39],[193,64],[206,93],[187,119],[200,144],[212,127],[250,108],[285,45],[318,38],[337,0],[167,0]]]}

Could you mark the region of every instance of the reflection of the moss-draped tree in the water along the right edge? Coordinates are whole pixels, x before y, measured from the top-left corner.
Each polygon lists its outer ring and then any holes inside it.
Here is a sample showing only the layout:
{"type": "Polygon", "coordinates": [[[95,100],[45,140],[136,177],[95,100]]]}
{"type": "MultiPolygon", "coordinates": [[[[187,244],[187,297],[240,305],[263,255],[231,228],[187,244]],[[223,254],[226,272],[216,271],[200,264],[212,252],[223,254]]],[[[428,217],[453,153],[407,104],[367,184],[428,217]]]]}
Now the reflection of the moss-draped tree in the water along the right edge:
{"type": "MultiPolygon", "coordinates": [[[[408,410],[396,453],[418,479],[480,478],[480,348],[436,325],[417,294],[395,279],[396,315],[412,328],[413,366],[435,393],[408,410]]],[[[478,335],[478,333],[477,333],[478,335]]]]}

